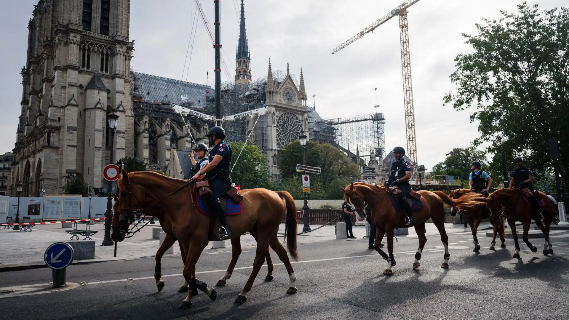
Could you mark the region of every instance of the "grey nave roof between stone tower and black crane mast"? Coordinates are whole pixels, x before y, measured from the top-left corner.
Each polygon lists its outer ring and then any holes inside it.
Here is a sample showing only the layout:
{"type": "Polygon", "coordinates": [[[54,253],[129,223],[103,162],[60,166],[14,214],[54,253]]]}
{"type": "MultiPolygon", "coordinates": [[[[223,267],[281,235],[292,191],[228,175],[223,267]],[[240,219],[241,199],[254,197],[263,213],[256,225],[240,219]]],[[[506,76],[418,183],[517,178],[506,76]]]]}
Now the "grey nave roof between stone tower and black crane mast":
{"type": "Polygon", "coordinates": [[[205,95],[213,88],[208,85],[180,81],[146,73],[133,72],[135,96],[146,101],[170,101],[175,104],[191,102],[193,106],[205,106],[205,95]]]}

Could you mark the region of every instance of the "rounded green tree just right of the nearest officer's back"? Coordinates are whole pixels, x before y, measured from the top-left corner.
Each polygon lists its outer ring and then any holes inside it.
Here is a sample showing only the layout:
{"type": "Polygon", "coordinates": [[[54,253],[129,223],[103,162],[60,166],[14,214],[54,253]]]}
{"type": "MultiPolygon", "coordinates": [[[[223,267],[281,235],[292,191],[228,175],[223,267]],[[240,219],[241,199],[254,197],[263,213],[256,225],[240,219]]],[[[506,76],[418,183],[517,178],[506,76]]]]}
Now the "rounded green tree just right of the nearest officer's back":
{"type": "Polygon", "coordinates": [[[232,150],[231,178],[235,184],[242,189],[268,188],[269,187],[269,168],[267,167],[267,157],[253,143],[228,142],[232,150]],[[243,152],[241,152],[241,149],[243,152]],[[241,152],[241,155],[239,153],[241,152]],[[237,159],[239,157],[239,159],[237,159]],[[237,165],[235,165],[237,161],[237,165]],[[235,167],[233,167],[235,166],[235,167]]]}

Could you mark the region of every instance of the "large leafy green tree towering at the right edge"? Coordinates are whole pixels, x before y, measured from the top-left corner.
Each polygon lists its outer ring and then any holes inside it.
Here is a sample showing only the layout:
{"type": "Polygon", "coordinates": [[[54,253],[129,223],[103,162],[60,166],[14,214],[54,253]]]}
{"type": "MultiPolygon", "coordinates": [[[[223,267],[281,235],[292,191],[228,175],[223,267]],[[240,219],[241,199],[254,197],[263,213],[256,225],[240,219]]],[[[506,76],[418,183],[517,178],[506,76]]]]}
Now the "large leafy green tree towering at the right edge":
{"type": "MultiPolygon", "coordinates": [[[[569,150],[569,9],[539,13],[538,5],[523,2],[517,13],[502,15],[476,24],[478,35],[463,34],[473,52],[456,57],[450,77],[457,89],[444,104],[476,107],[475,145],[488,141],[489,153],[519,155],[526,166],[546,172],[552,166],[548,139],[569,150]]],[[[559,167],[569,185],[569,153],[562,152],[559,167]]]]}

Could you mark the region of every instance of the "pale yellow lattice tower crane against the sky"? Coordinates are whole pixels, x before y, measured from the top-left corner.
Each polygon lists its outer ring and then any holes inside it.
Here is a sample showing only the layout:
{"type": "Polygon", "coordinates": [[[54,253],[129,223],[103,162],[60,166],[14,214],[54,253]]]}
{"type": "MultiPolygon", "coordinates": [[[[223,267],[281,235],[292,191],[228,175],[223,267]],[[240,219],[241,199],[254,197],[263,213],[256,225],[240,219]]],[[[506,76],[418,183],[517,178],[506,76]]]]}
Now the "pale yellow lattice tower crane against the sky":
{"type": "Polygon", "coordinates": [[[417,165],[417,139],[415,138],[415,112],[413,106],[413,85],[411,84],[411,59],[409,55],[409,26],[407,25],[407,8],[419,2],[419,0],[408,0],[403,2],[397,8],[391,10],[390,13],[384,15],[364,30],[354,35],[348,41],[340,44],[339,47],[332,50],[332,54],[349,46],[357,39],[372,32],[381,26],[387,20],[399,16],[399,36],[401,38],[401,69],[403,71],[403,105],[405,106],[405,128],[407,134],[407,157],[411,159],[415,166],[417,165]]]}

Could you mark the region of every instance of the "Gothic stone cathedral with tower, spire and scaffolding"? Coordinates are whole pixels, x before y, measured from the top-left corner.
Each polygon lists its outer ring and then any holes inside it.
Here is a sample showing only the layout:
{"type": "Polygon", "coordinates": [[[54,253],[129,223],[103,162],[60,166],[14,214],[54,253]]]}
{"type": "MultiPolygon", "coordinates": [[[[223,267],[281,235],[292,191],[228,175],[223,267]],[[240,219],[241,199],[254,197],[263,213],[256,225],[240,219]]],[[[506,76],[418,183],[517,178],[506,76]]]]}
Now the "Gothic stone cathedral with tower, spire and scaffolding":
{"type": "MultiPolygon", "coordinates": [[[[133,72],[129,23],[130,0],[40,0],[35,6],[21,72],[12,195],[18,182],[22,196],[61,194],[73,177],[100,188],[104,166],[123,157],[187,176],[189,150],[213,125],[199,115],[214,114],[214,89],[133,72]],[[183,117],[174,105],[196,114],[183,117]],[[116,128],[109,128],[110,113],[118,114],[116,128]]],[[[249,138],[259,146],[271,178],[278,179],[278,149],[302,132],[311,141],[331,142],[333,128],[307,105],[302,69],[297,81],[288,63],[286,73],[273,71],[267,57],[266,76],[253,80],[250,62],[241,0],[235,79],[222,85],[223,115],[263,106],[268,112],[223,126],[226,140],[249,138]]]]}

